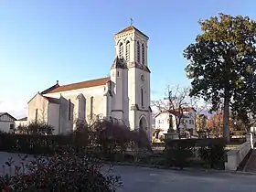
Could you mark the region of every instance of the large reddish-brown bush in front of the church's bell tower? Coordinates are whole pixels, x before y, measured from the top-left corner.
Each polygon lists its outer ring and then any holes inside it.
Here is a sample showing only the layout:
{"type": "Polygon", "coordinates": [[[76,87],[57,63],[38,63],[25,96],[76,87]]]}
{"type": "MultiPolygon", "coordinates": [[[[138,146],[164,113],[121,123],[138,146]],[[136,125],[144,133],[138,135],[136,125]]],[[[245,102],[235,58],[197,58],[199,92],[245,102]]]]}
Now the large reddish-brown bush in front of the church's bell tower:
{"type": "Polygon", "coordinates": [[[134,161],[138,161],[144,150],[152,151],[150,140],[143,130],[131,131],[120,122],[99,120],[85,125],[84,130],[88,130],[87,150],[108,161],[115,161],[116,157],[119,161],[124,159],[128,149],[132,150],[134,161]]]}

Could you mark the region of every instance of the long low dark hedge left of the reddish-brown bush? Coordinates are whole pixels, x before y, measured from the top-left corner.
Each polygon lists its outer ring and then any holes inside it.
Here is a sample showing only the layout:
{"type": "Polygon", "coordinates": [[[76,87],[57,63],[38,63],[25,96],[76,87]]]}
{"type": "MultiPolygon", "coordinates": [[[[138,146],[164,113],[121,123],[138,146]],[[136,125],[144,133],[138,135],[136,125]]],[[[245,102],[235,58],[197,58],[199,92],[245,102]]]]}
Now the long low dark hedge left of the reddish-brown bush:
{"type": "Polygon", "coordinates": [[[0,151],[29,155],[50,155],[59,146],[75,145],[72,135],[33,135],[0,133],[0,151]]]}

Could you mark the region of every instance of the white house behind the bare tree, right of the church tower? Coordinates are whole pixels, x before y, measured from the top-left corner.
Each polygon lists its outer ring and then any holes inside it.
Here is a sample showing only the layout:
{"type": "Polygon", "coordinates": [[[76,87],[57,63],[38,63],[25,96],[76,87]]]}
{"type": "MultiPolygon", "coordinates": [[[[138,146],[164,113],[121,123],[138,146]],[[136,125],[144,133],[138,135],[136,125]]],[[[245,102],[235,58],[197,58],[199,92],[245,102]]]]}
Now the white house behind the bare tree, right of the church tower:
{"type": "MultiPolygon", "coordinates": [[[[169,112],[159,112],[155,115],[155,130],[154,137],[156,139],[163,138],[165,133],[169,129],[169,123],[172,122],[172,127],[176,130],[176,116],[177,120],[179,119],[178,114],[169,113],[169,112]],[[171,116],[171,120],[170,120],[171,116]]],[[[195,120],[196,120],[196,110],[194,108],[184,108],[182,117],[180,118],[181,122],[179,124],[181,133],[194,133],[195,132],[195,120]]]]}

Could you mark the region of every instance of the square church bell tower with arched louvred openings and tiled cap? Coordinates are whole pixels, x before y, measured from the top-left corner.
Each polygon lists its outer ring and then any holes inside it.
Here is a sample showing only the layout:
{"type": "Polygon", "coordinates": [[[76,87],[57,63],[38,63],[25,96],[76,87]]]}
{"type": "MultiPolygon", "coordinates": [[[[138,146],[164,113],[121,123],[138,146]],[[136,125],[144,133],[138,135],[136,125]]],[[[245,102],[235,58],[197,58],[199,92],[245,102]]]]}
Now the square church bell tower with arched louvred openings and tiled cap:
{"type": "Polygon", "coordinates": [[[127,68],[127,77],[123,76],[123,88],[127,87],[127,90],[123,89],[123,95],[128,96],[127,106],[123,108],[124,113],[127,111],[132,130],[144,129],[150,135],[152,111],[147,59],[148,39],[149,37],[133,25],[114,36],[115,57],[121,59],[127,68]]]}

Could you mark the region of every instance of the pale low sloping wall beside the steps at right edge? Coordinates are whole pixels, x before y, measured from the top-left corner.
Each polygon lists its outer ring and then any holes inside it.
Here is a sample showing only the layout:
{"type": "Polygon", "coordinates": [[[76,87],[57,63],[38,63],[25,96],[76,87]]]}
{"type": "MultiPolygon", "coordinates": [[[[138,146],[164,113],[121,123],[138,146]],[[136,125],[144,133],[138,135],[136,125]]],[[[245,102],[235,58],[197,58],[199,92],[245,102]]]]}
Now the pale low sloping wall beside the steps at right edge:
{"type": "Polygon", "coordinates": [[[252,134],[250,133],[250,135],[247,135],[245,143],[240,144],[232,150],[229,150],[227,153],[228,161],[225,163],[225,169],[229,171],[236,171],[244,157],[253,148],[255,142],[256,138],[253,138],[252,134]]]}

